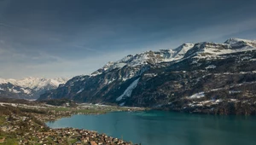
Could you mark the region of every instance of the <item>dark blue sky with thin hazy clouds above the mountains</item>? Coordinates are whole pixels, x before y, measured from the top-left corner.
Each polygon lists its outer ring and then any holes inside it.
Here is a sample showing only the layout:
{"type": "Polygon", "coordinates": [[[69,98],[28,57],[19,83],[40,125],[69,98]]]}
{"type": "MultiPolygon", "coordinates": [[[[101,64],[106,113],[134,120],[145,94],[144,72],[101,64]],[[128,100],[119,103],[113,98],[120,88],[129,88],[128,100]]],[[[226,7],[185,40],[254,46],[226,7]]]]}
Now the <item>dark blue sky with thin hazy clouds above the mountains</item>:
{"type": "Polygon", "coordinates": [[[0,78],[73,77],[149,49],[256,39],[255,0],[0,0],[0,78]]]}

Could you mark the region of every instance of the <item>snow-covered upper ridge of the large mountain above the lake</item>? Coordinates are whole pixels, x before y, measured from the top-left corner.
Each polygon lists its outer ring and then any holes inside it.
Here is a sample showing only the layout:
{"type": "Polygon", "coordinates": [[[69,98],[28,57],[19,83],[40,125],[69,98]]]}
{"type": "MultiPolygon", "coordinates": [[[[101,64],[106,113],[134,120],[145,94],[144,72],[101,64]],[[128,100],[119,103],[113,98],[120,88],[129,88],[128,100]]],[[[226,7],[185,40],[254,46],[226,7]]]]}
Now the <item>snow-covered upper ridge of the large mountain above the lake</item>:
{"type": "Polygon", "coordinates": [[[98,75],[105,71],[111,71],[115,68],[137,67],[145,64],[157,64],[161,62],[179,61],[192,57],[221,57],[221,55],[237,53],[255,49],[256,40],[246,40],[240,38],[230,38],[224,44],[215,44],[210,42],[202,42],[198,44],[182,44],[177,49],[160,49],[160,51],[147,51],[137,55],[127,55],[123,59],[115,62],[108,62],[104,67],[100,68],[92,75],[98,75]],[[189,52],[188,52],[189,51],[189,52]],[[188,53],[187,53],[188,52],[188,53]]]}

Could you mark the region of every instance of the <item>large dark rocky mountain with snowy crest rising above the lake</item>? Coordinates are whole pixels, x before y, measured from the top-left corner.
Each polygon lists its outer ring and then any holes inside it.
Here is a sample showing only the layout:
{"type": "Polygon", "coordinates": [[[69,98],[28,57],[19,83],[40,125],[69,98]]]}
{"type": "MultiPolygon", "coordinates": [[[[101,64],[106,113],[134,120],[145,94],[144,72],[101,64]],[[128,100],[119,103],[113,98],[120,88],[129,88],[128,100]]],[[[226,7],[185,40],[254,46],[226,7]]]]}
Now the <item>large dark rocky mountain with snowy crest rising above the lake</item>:
{"type": "Polygon", "coordinates": [[[114,103],[190,113],[255,114],[256,42],[183,44],[127,55],[39,99],[114,103]]]}

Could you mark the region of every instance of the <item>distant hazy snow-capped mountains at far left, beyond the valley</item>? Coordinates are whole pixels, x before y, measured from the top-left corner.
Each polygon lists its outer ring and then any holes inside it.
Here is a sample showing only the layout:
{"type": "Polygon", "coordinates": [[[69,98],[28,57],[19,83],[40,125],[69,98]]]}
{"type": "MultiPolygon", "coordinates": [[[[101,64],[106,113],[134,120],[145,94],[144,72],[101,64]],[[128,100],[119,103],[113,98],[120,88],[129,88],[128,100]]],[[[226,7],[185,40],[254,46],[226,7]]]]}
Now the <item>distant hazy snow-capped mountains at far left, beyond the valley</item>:
{"type": "Polygon", "coordinates": [[[45,91],[56,89],[66,82],[67,78],[0,78],[0,96],[37,99],[45,91]]]}

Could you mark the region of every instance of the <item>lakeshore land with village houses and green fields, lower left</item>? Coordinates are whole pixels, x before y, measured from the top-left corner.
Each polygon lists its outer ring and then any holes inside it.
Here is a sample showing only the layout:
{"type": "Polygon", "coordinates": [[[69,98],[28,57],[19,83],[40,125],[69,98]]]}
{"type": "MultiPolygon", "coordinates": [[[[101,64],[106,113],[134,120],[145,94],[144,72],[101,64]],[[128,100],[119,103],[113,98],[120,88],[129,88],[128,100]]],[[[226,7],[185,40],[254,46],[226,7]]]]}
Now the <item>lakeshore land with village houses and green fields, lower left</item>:
{"type": "Polygon", "coordinates": [[[138,111],[142,108],[106,107],[101,105],[83,105],[75,108],[27,105],[16,103],[0,103],[0,144],[19,145],[131,145],[121,139],[73,128],[51,129],[44,123],[54,121],[73,114],[99,114],[110,111],[138,111]]]}

